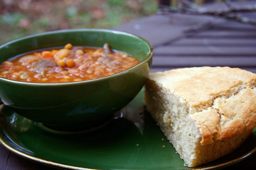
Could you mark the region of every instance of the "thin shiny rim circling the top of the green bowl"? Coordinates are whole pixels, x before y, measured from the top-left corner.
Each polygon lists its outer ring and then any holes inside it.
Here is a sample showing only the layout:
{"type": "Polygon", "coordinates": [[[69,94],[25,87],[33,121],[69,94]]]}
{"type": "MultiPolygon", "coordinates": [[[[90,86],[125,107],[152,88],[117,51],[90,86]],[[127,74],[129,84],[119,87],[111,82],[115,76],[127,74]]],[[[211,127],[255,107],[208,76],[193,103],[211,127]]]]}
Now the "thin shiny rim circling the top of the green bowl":
{"type": "Polygon", "coordinates": [[[31,82],[23,82],[23,81],[10,80],[10,79],[3,78],[3,77],[0,77],[0,80],[5,81],[5,82],[9,82],[9,83],[17,83],[17,84],[32,85],[32,86],[39,86],[39,85],[40,86],[57,86],[57,85],[59,86],[59,85],[79,85],[79,84],[83,84],[83,83],[92,83],[92,82],[95,82],[95,81],[101,81],[101,80],[105,80],[105,79],[112,78],[112,77],[114,78],[115,76],[118,76],[118,75],[122,75],[122,74],[124,74],[124,73],[126,73],[126,72],[128,72],[130,70],[135,69],[136,67],[138,67],[138,66],[140,66],[142,64],[145,64],[153,56],[153,47],[144,38],[142,38],[142,37],[140,37],[138,35],[135,35],[133,33],[127,33],[127,32],[124,32],[124,31],[116,31],[116,30],[111,30],[111,29],[101,29],[101,28],[79,28],[79,29],[63,29],[63,30],[56,30],[56,31],[46,31],[46,32],[43,32],[43,33],[36,33],[36,34],[32,34],[32,35],[27,35],[27,36],[24,36],[24,37],[21,37],[21,38],[17,38],[17,39],[8,41],[7,43],[4,43],[4,44],[0,45],[0,48],[5,47],[5,46],[7,46],[7,45],[9,45],[11,43],[17,42],[17,41],[27,39],[27,38],[33,38],[33,37],[41,36],[41,35],[49,35],[49,34],[53,34],[53,33],[74,32],[74,31],[104,31],[104,32],[109,32],[109,33],[129,35],[129,36],[132,36],[132,37],[135,37],[135,38],[139,38],[142,41],[144,41],[150,47],[150,52],[149,52],[149,54],[147,55],[147,57],[144,60],[140,61],[139,64],[136,64],[135,66],[133,66],[131,68],[128,68],[128,69],[126,69],[124,71],[121,71],[119,73],[115,73],[115,74],[112,74],[112,75],[109,75],[109,76],[100,77],[100,78],[94,78],[94,79],[91,79],[91,80],[83,80],[83,81],[67,82],[67,83],[31,83],[31,82]]]}

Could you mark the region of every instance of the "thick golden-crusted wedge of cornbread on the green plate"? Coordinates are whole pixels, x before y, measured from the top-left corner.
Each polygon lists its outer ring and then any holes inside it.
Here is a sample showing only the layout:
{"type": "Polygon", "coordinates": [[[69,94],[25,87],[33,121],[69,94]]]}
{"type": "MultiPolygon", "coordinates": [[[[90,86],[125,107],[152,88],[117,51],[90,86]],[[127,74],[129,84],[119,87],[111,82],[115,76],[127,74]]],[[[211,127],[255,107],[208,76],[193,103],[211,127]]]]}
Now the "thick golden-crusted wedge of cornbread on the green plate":
{"type": "Polygon", "coordinates": [[[234,151],[256,127],[256,74],[193,67],[151,73],[147,110],[188,167],[234,151]]]}

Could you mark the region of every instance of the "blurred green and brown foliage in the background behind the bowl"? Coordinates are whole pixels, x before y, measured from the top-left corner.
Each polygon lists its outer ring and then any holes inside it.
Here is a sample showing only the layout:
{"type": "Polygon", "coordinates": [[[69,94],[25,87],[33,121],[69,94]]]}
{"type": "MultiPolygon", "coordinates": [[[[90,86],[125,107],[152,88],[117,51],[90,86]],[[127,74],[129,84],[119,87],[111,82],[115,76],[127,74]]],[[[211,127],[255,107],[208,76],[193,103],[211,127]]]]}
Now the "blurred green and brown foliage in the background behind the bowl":
{"type": "Polygon", "coordinates": [[[0,44],[44,31],[113,28],[157,7],[157,0],[0,0],[0,44]]]}

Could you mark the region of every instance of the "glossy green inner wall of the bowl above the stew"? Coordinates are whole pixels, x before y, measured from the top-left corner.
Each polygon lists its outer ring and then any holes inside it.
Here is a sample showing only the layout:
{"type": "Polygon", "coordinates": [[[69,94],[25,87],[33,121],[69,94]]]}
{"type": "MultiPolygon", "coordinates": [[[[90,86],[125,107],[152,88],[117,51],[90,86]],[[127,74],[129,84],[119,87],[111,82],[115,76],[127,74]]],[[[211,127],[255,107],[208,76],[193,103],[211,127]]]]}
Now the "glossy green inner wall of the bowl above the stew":
{"type": "Polygon", "coordinates": [[[146,40],[129,33],[103,29],[70,29],[39,33],[5,43],[0,46],[0,62],[25,52],[63,47],[67,43],[91,47],[103,47],[104,43],[109,43],[111,48],[126,52],[140,61],[152,50],[146,40]]]}

